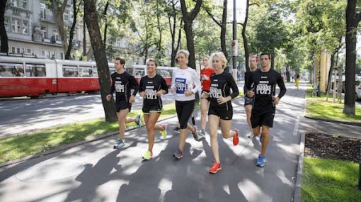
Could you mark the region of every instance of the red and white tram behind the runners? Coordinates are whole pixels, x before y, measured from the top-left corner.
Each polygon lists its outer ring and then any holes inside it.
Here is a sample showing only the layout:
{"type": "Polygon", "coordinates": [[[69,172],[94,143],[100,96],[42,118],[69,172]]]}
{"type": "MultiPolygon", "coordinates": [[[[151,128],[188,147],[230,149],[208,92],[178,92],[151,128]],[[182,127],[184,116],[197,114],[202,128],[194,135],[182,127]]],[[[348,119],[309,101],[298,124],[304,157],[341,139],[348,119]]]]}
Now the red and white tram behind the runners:
{"type": "MultiPolygon", "coordinates": [[[[171,86],[173,68],[156,69],[168,86],[171,86]]],[[[113,63],[109,63],[109,69],[110,74],[115,72],[113,63]]],[[[147,67],[127,64],[125,71],[139,82],[147,74],[147,67]]],[[[47,94],[94,93],[99,89],[96,62],[0,56],[0,97],[42,98],[47,94]]]]}

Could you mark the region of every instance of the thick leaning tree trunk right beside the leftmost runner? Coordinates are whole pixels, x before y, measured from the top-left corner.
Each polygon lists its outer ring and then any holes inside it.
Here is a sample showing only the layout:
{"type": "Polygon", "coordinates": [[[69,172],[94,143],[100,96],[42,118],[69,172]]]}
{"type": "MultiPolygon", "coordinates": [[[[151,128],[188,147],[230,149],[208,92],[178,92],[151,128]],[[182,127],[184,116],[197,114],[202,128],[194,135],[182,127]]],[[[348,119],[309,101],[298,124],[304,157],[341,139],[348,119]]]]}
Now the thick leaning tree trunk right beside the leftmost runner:
{"type": "Polygon", "coordinates": [[[96,57],[96,66],[98,69],[99,84],[101,86],[101,101],[103,103],[105,121],[115,122],[118,117],[115,113],[115,105],[113,98],[111,101],[106,100],[106,96],[110,92],[110,73],[108,60],[105,55],[105,46],[101,38],[101,30],[99,28],[98,16],[96,13],[96,4],[94,0],[84,0],[84,20],[88,27],[91,45],[96,57]]]}

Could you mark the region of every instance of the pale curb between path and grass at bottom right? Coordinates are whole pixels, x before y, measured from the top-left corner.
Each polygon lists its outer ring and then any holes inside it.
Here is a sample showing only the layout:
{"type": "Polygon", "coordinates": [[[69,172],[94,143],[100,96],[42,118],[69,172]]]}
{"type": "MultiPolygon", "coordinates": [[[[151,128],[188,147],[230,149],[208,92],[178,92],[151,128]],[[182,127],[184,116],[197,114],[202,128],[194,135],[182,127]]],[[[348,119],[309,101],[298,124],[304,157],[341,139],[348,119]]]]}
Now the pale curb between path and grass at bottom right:
{"type": "Polygon", "coordinates": [[[304,133],[301,134],[301,141],[299,142],[299,158],[297,167],[297,177],[294,190],[294,202],[301,201],[301,185],[302,185],[302,174],[304,166],[304,133]]]}

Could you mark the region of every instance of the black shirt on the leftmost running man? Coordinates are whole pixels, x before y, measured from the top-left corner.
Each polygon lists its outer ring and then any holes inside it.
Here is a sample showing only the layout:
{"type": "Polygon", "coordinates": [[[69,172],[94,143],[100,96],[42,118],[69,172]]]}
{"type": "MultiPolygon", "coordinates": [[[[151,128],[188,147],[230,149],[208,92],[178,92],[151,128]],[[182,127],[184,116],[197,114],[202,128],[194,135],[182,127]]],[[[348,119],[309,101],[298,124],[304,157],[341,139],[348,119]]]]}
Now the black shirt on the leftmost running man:
{"type": "Polygon", "coordinates": [[[129,74],[128,72],[124,72],[122,74],[118,74],[118,72],[114,72],[111,76],[112,86],[110,88],[110,94],[113,95],[115,91],[115,103],[122,103],[126,101],[129,103],[130,99],[130,88],[134,86],[133,96],[135,96],[139,91],[139,84],[137,80],[129,74]]]}

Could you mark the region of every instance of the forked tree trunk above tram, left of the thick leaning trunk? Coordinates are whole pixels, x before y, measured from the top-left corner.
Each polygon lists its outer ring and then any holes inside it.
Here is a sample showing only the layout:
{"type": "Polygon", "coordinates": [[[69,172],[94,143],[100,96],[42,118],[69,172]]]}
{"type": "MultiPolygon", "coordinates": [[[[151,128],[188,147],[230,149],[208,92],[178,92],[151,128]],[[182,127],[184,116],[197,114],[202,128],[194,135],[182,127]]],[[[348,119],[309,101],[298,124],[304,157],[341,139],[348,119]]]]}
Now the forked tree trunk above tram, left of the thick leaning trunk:
{"type": "Polygon", "coordinates": [[[63,14],[65,8],[67,7],[67,0],[63,1],[62,6],[58,6],[57,0],[52,0],[52,16],[54,18],[55,24],[59,28],[60,39],[62,40],[63,51],[66,53],[68,51],[68,40],[67,40],[67,29],[64,26],[63,14]]]}

